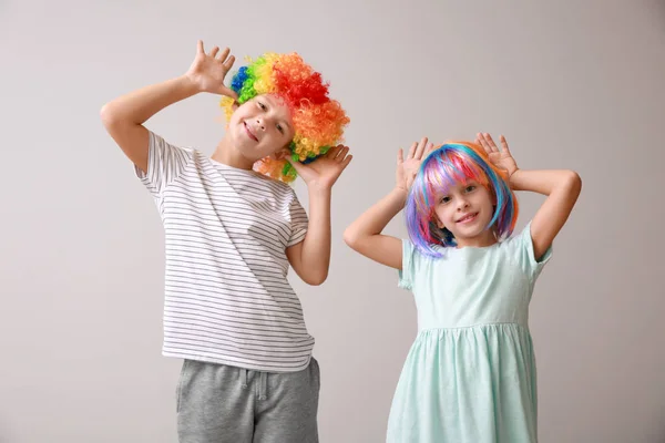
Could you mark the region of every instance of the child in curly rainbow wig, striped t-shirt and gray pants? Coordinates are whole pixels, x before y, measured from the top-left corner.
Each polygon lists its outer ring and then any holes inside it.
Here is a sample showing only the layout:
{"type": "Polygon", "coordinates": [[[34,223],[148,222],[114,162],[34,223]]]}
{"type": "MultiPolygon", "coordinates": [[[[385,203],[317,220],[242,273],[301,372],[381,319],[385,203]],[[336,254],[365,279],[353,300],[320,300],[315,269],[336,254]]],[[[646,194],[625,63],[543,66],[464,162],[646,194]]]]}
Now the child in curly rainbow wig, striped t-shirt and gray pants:
{"type": "Polygon", "coordinates": [[[351,161],[335,144],[349,120],[298,54],[265,54],[228,89],[233,63],[198,42],[184,75],[113,100],[102,121],[164,223],[163,354],[184,360],[180,441],[315,443],[319,368],[287,272],[326,280],[331,187],[351,161]],[[203,92],[225,96],[228,121],[212,157],[143,125],[203,92]],[[285,183],[296,175],[309,218],[285,183]]]}

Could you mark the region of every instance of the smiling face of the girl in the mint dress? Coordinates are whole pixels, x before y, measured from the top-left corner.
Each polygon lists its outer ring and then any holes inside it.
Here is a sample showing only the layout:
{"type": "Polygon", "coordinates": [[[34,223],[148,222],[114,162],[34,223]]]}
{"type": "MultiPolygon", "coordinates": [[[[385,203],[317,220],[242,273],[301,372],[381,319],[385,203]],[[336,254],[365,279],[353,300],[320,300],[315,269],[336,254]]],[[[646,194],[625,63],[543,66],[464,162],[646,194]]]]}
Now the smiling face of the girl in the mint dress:
{"type": "Polygon", "coordinates": [[[497,243],[493,230],[487,229],[493,213],[492,195],[474,181],[457,183],[448,193],[437,195],[437,225],[452,233],[458,247],[481,247],[497,243]]]}

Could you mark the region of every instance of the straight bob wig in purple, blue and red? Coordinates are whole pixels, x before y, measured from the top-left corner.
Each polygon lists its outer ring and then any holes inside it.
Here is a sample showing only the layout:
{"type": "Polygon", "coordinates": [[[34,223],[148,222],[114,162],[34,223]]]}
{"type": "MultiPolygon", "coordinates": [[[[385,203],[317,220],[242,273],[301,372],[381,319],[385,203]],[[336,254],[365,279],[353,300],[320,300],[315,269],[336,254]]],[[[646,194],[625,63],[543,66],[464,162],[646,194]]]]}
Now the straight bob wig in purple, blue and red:
{"type": "Polygon", "coordinates": [[[457,246],[452,233],[437,226],[436,198],[450,186],[469,181],[484,186],[495,202],[488,229],[493,227],[500,241],[512,234],[519,206],[507,173],[489,162],[481,146],[469,142],[447,143],[422,161],[407,198],[409,238],[422,254],[438,258],[443,255],[440,246],[457,246]]]}

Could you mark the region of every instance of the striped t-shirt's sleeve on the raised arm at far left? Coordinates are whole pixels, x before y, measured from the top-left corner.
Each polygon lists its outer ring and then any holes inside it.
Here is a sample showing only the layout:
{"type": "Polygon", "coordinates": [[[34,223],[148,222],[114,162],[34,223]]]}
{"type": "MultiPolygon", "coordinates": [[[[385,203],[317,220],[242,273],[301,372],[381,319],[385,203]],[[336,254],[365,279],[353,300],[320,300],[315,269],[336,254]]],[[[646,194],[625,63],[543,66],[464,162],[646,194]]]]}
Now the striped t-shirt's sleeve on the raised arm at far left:
{"type": "Polygon", "coordinates": [[[154,197],[160,197],[166,186],[181,175],[193,158],[193,153],[166,143],[150,131],[147,146],[147,173],[137,166],[134,166],[134,173],[154,197]]]}

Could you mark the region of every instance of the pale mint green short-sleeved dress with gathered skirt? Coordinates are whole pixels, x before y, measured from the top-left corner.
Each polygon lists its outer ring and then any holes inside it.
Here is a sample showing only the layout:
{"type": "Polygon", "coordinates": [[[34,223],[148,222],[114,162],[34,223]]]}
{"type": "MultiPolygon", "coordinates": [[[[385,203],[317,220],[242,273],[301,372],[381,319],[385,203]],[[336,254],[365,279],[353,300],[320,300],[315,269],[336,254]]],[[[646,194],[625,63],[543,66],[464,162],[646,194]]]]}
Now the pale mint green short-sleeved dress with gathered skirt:
{"type": "Polygon", "coordinates": [[[447,248],[403,241],[399,286],[418,309],[418,336],[390,410],[388,443],[538,441],[533,286],[550,259],[533,254],[531,224],[502,243],[447,248]]]}

